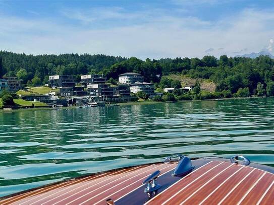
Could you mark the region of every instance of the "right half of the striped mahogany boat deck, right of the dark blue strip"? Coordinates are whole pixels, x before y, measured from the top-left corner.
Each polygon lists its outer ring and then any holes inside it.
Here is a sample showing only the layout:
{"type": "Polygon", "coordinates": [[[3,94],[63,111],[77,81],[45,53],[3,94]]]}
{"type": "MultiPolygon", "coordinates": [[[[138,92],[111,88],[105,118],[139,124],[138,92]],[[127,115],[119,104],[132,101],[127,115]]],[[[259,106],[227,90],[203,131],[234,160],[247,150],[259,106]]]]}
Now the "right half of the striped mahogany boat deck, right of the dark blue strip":
{"type": "Polygon", "coordinates": [[[273,204],[274,175],[256,168],[211,161],[146,204],[273,204]]]}

